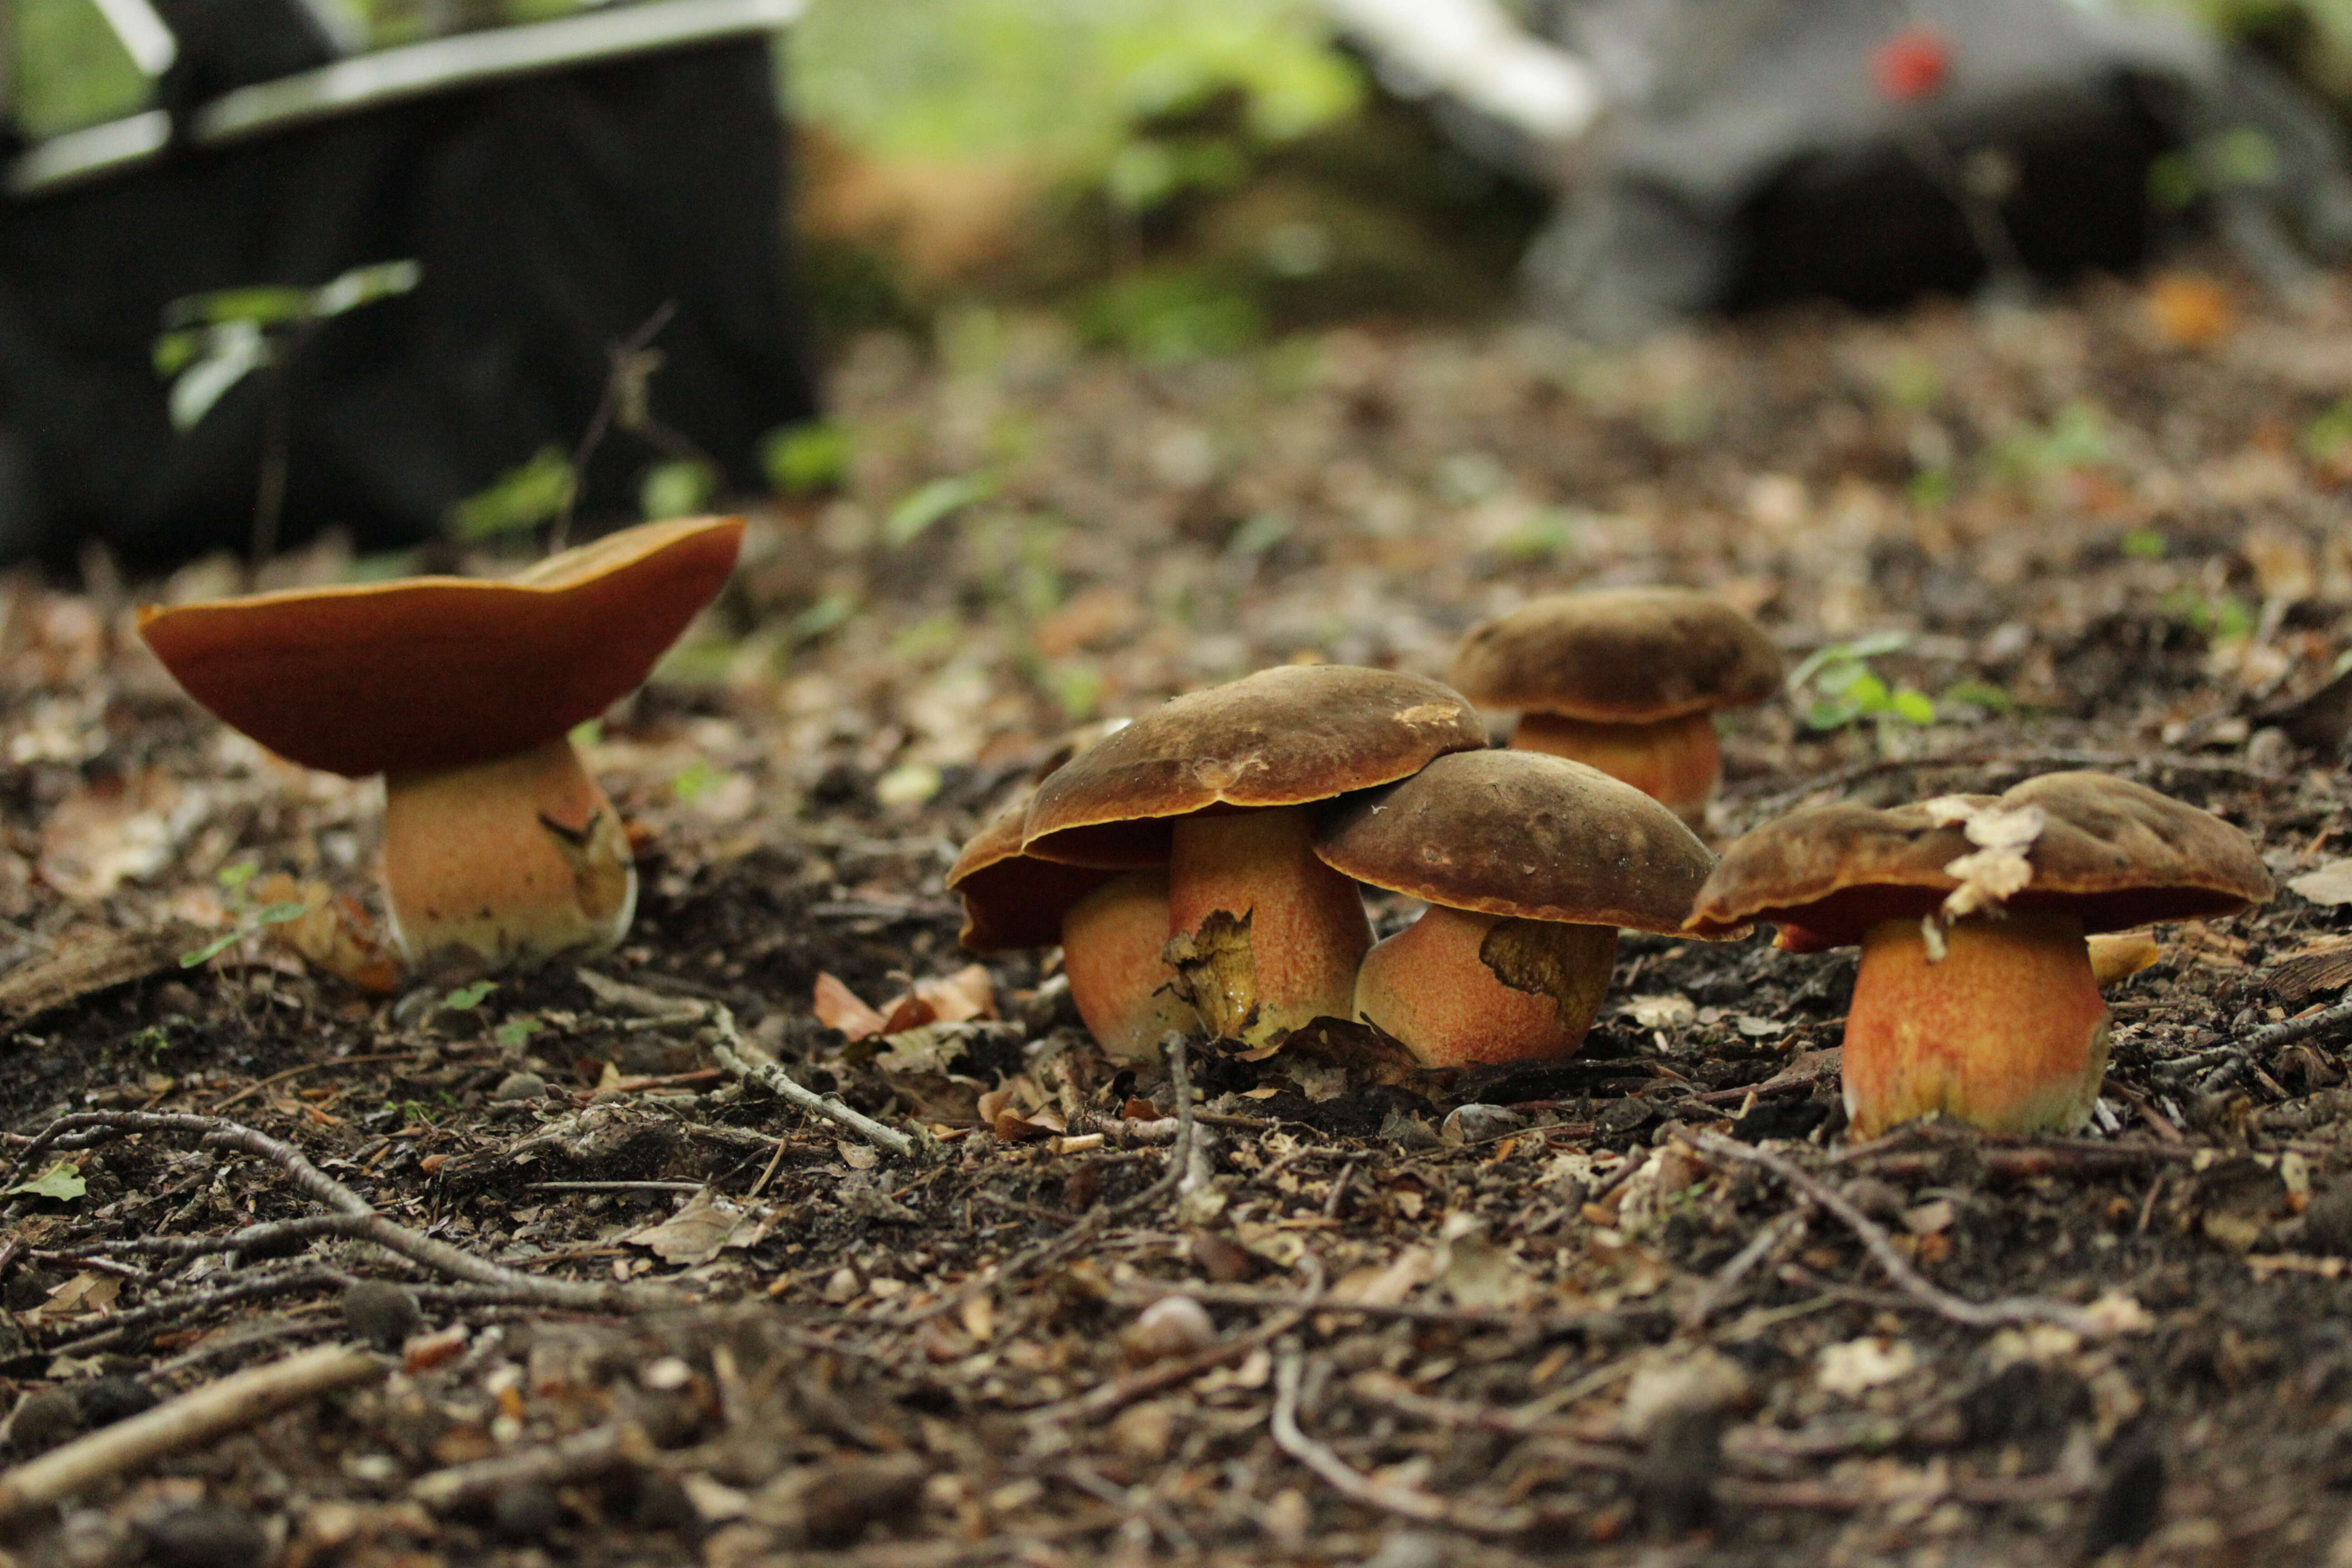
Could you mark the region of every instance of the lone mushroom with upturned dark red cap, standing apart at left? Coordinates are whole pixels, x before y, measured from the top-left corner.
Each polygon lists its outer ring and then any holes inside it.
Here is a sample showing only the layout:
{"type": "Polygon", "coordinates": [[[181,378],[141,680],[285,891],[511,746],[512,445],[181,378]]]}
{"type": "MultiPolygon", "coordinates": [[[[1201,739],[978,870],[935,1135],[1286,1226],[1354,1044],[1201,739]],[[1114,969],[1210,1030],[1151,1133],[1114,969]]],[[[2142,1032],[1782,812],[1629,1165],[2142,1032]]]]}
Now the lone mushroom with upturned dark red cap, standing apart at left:
{"type": "Polygon", "coordinates": [[[383,773],[383,900],[412,964],[612,947],[628,835],[572,748],[717,595],[741,517],[623,529],[506,578],[397,578],[139,611],[198,703],[303,766],[383,773]]]}

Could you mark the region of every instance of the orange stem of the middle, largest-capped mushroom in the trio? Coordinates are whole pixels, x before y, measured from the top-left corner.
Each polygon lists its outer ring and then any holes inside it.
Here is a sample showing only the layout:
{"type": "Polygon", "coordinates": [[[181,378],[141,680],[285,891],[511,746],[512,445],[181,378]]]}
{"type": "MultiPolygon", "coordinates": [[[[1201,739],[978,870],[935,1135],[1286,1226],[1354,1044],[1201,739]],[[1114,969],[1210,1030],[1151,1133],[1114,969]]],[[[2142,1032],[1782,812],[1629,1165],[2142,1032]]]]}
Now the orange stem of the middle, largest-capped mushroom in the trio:
{"type": "MultiPolygon", "coordinates": [[[[1216,999],[1225,1018],[1254,1018],[1242,1034],[1263,1044],[1310,1018],[1345,1018],[1371,922],[1355,882],[1315,858],[1305,806],[1204,811],[1178,818],[1169,851],[1169,933],[1197,936],[1225,912],[1249,919],[1251,994],[1216,999]]],[[[1240,985],[1237,966],[1221,978],[1240,985]]]]}

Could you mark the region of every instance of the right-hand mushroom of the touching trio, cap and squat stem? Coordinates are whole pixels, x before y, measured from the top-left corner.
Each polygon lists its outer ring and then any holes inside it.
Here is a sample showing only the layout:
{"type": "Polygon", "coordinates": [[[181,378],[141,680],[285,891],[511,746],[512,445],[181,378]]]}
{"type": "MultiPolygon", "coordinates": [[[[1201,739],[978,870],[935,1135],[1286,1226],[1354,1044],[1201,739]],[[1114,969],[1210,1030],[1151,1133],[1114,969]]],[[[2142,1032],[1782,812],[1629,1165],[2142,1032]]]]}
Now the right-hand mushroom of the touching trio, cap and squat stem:
{"type": "Polygon", "coordinates": [[[1715,865],[1651,797],[1541,752],[1458,752],[1352,795],[1315,853],[1430,905],[1355,980],[1355,1011],[1430,1067],[1576,1056],[1618,926],[1682,929],[1715,865]]]}

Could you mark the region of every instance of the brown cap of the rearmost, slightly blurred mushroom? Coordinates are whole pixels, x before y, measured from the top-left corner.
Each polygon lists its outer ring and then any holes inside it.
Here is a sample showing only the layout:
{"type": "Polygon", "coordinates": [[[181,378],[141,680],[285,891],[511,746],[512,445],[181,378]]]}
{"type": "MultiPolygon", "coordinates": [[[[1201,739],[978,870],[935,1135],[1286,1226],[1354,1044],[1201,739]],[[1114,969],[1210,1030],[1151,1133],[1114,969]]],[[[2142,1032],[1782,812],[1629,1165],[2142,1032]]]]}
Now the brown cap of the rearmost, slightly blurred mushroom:
{"type": "Polygon", "coordinates": [[[1762,703],[1780,689],[1780,649],[1712,595],[1606,588],[1470,628],[1446,679],[1482,708],[1658,724],[1762,703]]]}

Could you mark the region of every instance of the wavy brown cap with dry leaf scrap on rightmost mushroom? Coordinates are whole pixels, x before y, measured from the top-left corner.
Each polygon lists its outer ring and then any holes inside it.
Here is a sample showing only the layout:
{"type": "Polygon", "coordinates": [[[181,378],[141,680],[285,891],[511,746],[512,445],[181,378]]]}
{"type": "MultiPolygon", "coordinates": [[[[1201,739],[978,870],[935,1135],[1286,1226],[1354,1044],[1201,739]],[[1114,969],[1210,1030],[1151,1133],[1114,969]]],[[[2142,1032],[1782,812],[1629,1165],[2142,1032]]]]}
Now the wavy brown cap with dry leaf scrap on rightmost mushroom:
{"type": "MultiPolygon", "coordinates": [[[[2044,773],[1978,806],[2042,806],[2027,849],[2032,882],[2011,910],[2079,914],[2084,931],[2234,914],[2270,898],[2253,842],[2211,811],[2107,773],[2044,773]]],[[[1764,823],[1724,851],[1698,893],[1700,936],[1769,919],[1797,926],[1802,947],[1860,940],[1882,919],[1919,917],[1959,879],[1943,870],[1976,846],[1938,827],[1924,802],[1877,811],[1813,806],[1764,823]]]]}

